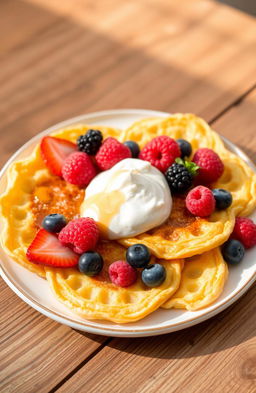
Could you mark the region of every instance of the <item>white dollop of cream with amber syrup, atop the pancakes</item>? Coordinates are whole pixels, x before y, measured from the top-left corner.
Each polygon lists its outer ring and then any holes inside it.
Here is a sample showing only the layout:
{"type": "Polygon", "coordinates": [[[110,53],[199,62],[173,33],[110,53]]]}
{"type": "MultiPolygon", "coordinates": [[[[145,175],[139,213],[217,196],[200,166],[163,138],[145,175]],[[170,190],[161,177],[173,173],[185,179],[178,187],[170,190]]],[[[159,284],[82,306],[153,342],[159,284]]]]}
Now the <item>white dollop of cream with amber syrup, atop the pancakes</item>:
{"type": "Polygon", "coordinates": [[[109,239],[119,239],[162,224],[171,208],[164,175],[147,161],[127,158],[91,181],[80,212],[105,228],[109,239]]]}

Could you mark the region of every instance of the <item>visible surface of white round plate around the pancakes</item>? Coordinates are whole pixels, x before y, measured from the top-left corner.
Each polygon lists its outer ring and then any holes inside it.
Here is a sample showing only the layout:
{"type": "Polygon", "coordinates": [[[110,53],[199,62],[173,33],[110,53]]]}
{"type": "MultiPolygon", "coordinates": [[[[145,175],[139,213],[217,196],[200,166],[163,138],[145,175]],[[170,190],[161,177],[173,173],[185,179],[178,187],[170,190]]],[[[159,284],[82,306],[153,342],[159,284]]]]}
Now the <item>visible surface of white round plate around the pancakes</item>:
{"type": "MultiPolygon", "coordinates": [[[[147,110],[113,110],[79,116],[49,128],[31,139],[7,162],[0,173],[0,193],[6,186],[7,167],[14,160],[29,155],[43,135],[59,128],[81,122],[122,129],[128,127],[136,120],[153,116],[166,117],[168,114],[147,110]]],[[[256,171],[255,166],[239,148],[226,139],[225,143],[230,150],[242,157],[248,165],[256,171]]],[[[256,215],[254,216],[256,217],[256,215]]],[[[138,322],[118,325],[105,321],[87,321],[78,317],[54,298],[46,280],[36,276],[12,261],[3,250],[0,250],[0,259],[3,279],[9,287],[30,306],[47,317],[74,329],[106,336],[153,336],[195,325],[218,314],[234,303],[250,288],[256,279],[256,249],[252,249],[246,252],[246,256],[240,265],[229,268],[229,278],[225,285],[225,289],[221,297],[213,305],[194,312],[159,309],[138,322]]]]}

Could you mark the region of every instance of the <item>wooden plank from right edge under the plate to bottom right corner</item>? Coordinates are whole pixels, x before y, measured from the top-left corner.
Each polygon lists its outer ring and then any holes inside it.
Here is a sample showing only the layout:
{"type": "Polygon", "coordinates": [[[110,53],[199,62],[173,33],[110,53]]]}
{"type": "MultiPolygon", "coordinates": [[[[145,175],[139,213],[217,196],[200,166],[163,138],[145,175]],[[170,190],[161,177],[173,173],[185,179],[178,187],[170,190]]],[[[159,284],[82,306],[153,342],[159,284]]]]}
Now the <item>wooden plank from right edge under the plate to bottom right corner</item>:
{"type": "MultiPolygon", "coordinates": [[[[213,124],[234,142],[249,146],[254,160],[255,93],[256,89],[213,124]]],[[[253,393],[255,295],[254,286],[223,313],[181,332],[146,339],[114,339],[58,392],[86,389],[88,393],[108,393],[115,389],[125,393],[253,393]]]]}

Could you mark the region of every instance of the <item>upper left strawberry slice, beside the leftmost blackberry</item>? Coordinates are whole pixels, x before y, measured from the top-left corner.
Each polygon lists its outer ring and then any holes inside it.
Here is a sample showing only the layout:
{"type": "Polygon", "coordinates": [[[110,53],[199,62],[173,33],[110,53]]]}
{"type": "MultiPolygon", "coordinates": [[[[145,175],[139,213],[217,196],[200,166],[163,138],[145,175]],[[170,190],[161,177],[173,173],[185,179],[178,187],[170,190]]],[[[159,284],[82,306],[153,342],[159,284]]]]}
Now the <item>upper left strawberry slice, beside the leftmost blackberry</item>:
{"type": "Polygon", "coordinates": [[[57,176],[61,176],[61,168],[65,159],[77,150],[74,143],[53,136],[45,136],[40,148],[45,164],[57,176]]]}

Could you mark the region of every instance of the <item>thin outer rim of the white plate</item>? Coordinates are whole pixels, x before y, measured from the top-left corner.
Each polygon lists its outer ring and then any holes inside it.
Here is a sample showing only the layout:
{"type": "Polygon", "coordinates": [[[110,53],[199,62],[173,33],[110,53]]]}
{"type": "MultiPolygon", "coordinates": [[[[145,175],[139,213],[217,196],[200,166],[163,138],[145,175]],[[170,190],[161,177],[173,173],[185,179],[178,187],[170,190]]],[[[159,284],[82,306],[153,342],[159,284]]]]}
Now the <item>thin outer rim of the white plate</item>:
{"type": "MultiPolygon", "coordinates": [[[[98,111],[98,112],[92,112],[88,114],[83,114],[79,115],[76,117],[72,117],[70,119],[61,121],[51,127],[48,127],[46,130],[43,130],[42,132],[36,134],[34,137],[29,139],[25,144],[23,144],[5,163],[5,165],[2,167],[0,171],[0,179],[2,176],[5,174],[7,168],[9,167],[10,163],[15,160],[15,158],[24,150],[26,147],[29,147],[33,142],[35,142],[40,136],[47,135],[53,131],[56,131],[60,128],[70,126],[72,124],[77,124],[81,122],[85,122],[85,118],[90,120],[93,119],[94,117],[96,118],[103,118],[103,117],[113,117],[113,116],[127,116],[127,115],[132,115],[132,114],[140,114],[140,115],[145,115],[145,116],[160,116],[160,117],[167,117],[170,115],[170,113],[167,112],[161,112],[161,111],[155,111],[155,110],[148,110],[148,109],[115,109],[115,110],[105,110],[105,111],[98,111]]],[[[220,134],[219,134],[220,135],[220,134]]],[[[220,135],[220,137],[223,139],[224,143],[236,154],[238,154],[253,170],[256,172],[256,166],[254,163],[251,161],[251,159],[234,143],[229,141],[227,138],[224,136],[220,135]]],[[[83,322],[76,322],[72,319],[72,317],[68,316],[63,316],[61,313],[58,313],[56,311],[51,310],[49,307],[44,306],[37,300],[33,299],[32,296],[24,291],[23,288],[20,288],[20,285],[18,283],[13,282],[12,277],[9,277],[8,272],[6,272],[2,261],[0,261],[0,274],[3,278],[3,280],[6,282],[6,284],[18,295],[25,303],[30,305],[32,308],[36,309],[37,311],[41,312],[43,315],[59,322],[64,325],[70,326],[74,329],[86,331],[88,333],[94,333],[94,334],[99,334],[99,335],[104,335],[104,336],[116,336],[116,337],[146,337],[146,336],[153,336],[153,335],[161,335],[161,334],[166,334],[166,333],[171,333],[177,330],[182,330],[187,327],[194,326],[198,323],[201,323],[216,314],[224,311],[227,307],[232,305],[236,300],[238,300],[254,283],[256,280],[256,271],[253,273],[253,275],[246,281],[246,283],[239,289],[238,292],[236,292],[230,299],[227,299],[225,302],[223,302],[221,305],[216,305],[211,310],[206,309],[206,311],[200,315],[200,316],[195,316],[190,318],[189,320],[186,321],[181,321],[177,322],[175,324],[171,324],[165,327],[155,327],[155,328],[145,328],[143,330],[138,330],[138,328],[132,328],[131,325],[127,327],[126,329],[119,329],[119,327],[108,327],[105,326],[103,327],[97,327],[97,326],[92,326],[90,324],[86,324],[86,321],[83,322]]],[[[125,326],[125,324],[123,325],[125,326]]]]}

